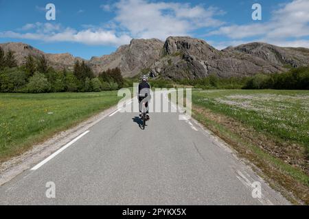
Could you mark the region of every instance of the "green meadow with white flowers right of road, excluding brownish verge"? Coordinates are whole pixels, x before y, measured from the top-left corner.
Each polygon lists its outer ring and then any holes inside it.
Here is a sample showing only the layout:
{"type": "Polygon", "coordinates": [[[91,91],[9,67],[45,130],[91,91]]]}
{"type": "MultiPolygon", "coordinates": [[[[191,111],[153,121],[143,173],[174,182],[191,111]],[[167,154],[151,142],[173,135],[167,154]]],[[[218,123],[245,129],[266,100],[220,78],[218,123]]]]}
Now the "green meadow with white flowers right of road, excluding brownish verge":
{"type": "Polygon", "coordinates": [[[309,91],[203,90],[193,103],[309,150],[309,91]]]}

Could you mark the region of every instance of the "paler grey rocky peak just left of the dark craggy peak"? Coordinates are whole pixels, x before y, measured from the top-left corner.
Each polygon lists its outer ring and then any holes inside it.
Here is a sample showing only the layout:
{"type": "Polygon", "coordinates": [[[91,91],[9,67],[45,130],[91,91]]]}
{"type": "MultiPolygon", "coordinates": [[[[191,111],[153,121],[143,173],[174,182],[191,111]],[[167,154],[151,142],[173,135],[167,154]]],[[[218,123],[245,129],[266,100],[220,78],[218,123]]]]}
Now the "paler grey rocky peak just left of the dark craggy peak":
{"type": "Polygon", "coordinates": [[[119,47],[111,55],[91,58],[89,64],[95,72],[118,67],[124,77],[133,77],[159,60],[162,48],[161,40],[131,40],[130,44],[119,47]]]}

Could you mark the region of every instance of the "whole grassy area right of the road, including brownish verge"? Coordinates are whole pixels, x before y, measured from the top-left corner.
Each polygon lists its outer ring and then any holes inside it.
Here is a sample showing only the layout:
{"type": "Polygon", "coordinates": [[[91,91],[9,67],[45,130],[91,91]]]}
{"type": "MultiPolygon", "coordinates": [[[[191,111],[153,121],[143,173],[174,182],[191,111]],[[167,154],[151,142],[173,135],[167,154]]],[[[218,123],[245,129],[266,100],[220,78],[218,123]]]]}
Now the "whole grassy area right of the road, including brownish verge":
{"type": "Polygon", "coordinates": [[[309,203],[309,91],[194,90],[192,102],[194,118],[258,166],[271,185],[309,203]]]}

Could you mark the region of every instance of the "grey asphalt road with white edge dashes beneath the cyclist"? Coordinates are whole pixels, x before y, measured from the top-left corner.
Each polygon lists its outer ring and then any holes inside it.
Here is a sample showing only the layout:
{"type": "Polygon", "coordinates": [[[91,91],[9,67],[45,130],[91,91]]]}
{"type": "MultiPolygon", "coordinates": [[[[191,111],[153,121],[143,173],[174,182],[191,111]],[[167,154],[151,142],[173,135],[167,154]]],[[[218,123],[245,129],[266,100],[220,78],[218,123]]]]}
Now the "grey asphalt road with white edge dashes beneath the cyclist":
{"type": "Polygon", "coordinates": [[[285,205],[278,192],[194,121],[117,112],[36,170],[0,187],[1,205],[285,205]],[[55,185],[47,198],[46,183],[55,185]],[[253,198],[255,181],[262,198],[253,198]]]}

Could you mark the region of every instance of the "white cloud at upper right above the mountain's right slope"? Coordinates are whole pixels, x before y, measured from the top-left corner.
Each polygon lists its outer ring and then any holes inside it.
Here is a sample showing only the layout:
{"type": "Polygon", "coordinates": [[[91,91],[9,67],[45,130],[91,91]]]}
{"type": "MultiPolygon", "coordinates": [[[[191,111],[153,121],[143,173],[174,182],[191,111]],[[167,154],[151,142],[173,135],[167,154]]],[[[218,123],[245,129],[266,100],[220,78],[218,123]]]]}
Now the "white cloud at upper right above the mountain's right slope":
{"type": "Polygon", "coordinates": [[[223,26],[208,35],[227,36],[234,40],[255,37],[274,44],[304,46],[306,40],[299,38],[309,36],[308,8],[308,0],[294,0],[273,11],[268,22],[223,26]],[[288,41],[287,38],[296,39],[288,41]]]}

